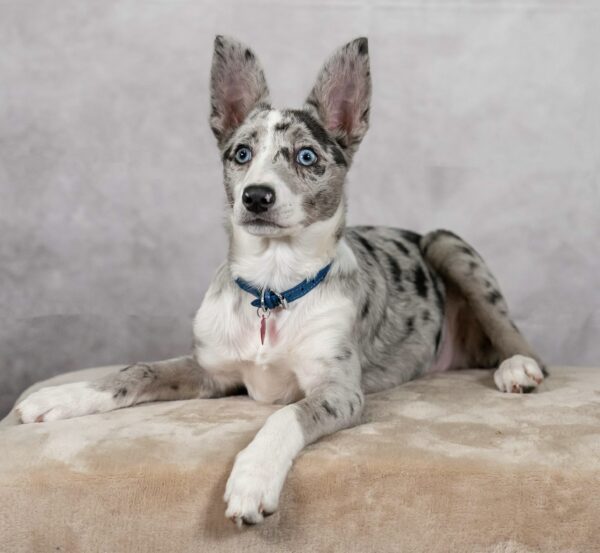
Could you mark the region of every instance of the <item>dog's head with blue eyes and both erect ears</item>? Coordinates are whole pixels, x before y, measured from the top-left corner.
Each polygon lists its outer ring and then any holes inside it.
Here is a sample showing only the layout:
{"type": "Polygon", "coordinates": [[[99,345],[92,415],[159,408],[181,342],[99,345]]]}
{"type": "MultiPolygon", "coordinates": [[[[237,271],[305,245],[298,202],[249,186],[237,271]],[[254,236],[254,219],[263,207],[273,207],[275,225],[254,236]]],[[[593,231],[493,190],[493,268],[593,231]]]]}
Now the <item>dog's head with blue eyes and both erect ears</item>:
{"type": "Polygon", "coordinates": [[[339,212],[370,97],[366,38],[327,60],[302,109],[276,110],[252,50],[216,37],[210,123],[232,223],[254,235],[290,236],[339,212]]]}

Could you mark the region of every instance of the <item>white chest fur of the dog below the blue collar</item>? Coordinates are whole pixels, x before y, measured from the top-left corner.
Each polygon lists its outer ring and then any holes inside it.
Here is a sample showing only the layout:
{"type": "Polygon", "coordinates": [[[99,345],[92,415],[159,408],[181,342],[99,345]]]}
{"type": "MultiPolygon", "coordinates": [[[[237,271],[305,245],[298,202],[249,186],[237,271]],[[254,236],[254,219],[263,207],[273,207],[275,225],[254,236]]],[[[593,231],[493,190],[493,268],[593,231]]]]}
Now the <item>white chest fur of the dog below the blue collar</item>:
{"type": "Polygon", "coordinates": [[[233,287],[209,289],[194,322],[196,358],[215,378],[244,384],[259,401],[290,403],[304,395],[348,340],[354,308],[318,287],[287,310],[271,311],[264,345],[251,295],[233,287]]]}

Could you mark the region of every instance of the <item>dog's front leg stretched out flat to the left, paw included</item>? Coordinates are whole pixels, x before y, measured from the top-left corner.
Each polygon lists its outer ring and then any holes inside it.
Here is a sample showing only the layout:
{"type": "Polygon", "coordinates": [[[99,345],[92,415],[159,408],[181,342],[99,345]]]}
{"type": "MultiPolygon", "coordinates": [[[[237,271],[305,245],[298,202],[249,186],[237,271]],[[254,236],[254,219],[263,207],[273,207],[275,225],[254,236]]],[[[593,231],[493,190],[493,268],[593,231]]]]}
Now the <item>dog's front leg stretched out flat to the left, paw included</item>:
{"type": "Polygon", "coordinates": [[[104,413],[148,401],[225,395],[234,382],[217,380],[191,357],[136,363],[99,380],[48,386],[16,407],[22,422],[46,422],[104,413]]]}

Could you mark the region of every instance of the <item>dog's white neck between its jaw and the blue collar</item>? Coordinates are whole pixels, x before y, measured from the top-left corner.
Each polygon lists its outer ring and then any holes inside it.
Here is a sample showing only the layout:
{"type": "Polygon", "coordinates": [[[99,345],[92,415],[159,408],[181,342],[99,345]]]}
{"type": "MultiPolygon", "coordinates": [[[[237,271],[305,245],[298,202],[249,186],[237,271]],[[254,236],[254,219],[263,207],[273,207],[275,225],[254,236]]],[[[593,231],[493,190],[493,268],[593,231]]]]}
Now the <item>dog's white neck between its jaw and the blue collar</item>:
{"type": "Polygon", "coordinates": [[[315,276],[336,257],[344,225],[343,202],[333,217],[313,223],[295,236],[253,236],[231,224],[231,274],[258,288],[267,287],[283,292],[315,276]]]}

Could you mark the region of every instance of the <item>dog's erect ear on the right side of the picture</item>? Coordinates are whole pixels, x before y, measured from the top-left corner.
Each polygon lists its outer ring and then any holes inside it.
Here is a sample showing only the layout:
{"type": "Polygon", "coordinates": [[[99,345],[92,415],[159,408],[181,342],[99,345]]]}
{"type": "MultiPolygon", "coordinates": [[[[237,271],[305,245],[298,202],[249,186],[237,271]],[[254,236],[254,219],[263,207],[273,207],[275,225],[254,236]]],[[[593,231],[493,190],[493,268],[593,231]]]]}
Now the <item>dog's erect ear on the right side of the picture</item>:
{"type": "Polygon", "coordinates": [[[363,37],[342,46],[325,62],[306,109],[354,151],[369,127],[370,101],[369,43],[363,37]]]}

